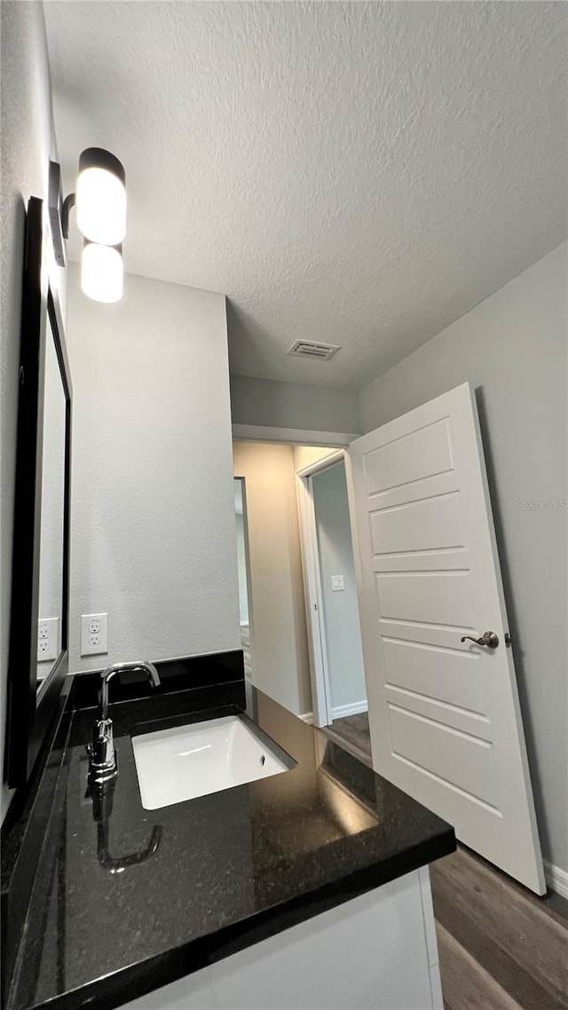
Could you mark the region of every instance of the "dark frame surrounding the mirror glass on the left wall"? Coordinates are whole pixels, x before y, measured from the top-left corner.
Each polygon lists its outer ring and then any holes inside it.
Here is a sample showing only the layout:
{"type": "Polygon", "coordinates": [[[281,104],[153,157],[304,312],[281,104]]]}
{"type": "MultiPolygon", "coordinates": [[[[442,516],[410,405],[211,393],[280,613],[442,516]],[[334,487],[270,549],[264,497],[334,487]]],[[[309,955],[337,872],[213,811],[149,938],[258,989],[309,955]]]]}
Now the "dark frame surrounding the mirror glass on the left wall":
{"type": "Polygon", "coordinates": [[[71,493],[71,378],[57,293],[42,264],[43,205],[30,197],[25,227],[17,417],[12,599],[5,769],[11,788],[25,786],[69,670],[69,536],[71,493]],[[48,325],[48,320],[50,325],[48,325]],[[46,340],[56,344],[66,398],[62,650],[37,684],[37,619],[41,464],[46,340]]]}

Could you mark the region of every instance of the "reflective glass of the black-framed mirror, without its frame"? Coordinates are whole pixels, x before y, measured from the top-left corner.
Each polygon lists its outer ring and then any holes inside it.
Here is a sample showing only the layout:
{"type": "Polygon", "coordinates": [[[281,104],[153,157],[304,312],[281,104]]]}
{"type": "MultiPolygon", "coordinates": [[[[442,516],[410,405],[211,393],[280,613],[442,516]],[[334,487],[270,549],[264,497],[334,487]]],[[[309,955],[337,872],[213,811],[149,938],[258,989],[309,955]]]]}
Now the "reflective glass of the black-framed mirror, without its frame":
{"type": "Polygon", "coordinates": [[[48,319],[46,329],[39,523],[37,690],[41,688],[61,655],[64,605],[67,397],[51,318],[48,319]]]}

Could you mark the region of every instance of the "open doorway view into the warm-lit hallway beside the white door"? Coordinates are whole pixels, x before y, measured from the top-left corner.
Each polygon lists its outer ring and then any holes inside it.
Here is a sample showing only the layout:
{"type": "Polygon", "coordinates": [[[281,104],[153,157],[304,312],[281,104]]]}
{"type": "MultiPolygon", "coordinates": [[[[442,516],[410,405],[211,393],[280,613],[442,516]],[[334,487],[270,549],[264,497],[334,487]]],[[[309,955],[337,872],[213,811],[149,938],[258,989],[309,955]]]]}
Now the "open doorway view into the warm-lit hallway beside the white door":
{"type": "Polygon", "coordinates": [[[343,453],[233,442],[241,639],[247,677],[306,721],[365,722],[367,699],[343,453]],[[319,473],[311,478],[311,471],[319,473]],[[300,476],[313,492],[317,586],[307,563],[300,476]],[[321,556],[319,558],[319,554],[321,556]],[[332,576],[334,577],[332,579],[332,576]],[[336,589],[333,585],[337,586],[336,589]],[[314,596],[314,592],[317,594],[314,596]],[[316,624],[312,620],[315,605],[316,624]],[[317,609],[319,608],[319,609],[317,609]],[[321,660],[322,654],[324,660],[321,660]],[[317,671],[324,663],[321,680],[317,671]]]}

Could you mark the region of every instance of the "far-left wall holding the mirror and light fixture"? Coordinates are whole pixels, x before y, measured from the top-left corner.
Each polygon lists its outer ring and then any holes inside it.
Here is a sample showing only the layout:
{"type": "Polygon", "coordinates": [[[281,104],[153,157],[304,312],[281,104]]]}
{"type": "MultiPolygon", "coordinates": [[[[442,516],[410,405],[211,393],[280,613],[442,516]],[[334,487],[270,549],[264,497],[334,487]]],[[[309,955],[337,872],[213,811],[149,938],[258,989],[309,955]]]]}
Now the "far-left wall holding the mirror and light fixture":
{"type": "MultiPolygon", "coordinates": [[[[21,272],[25,208],[30,196],[45,198],[50,157],[57,159],[43,10],[40,3],[4,0],[1,12],[1,200],[0,200],[0,761],[3,760],[5,687],[10,622],[12,528],[18,395],[21,272]]],[[[45,223],[46,230],[46,223],[45,223]]],[[[65,276],[45,260],[64,301],[65,276]]],[[[2,784],[1,818],[9,802],[2,784]]]]}

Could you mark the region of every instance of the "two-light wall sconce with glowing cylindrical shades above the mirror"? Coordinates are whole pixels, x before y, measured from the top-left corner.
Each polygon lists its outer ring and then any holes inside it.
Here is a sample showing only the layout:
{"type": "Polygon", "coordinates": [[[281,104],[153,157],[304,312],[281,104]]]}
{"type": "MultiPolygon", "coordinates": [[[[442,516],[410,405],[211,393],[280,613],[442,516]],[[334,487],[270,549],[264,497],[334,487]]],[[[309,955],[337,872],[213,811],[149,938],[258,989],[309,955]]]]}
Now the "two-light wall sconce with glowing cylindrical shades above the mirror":
{"type": "Polygon", "coordinates": [[[79,159],[75,193],[62,199],[61,167],[50,163],[50,219],[56,261],[65,267],[69,219],[77,208],[77,224],[85,242],[81,256],[81,288],[97,302],[122,297],[122,240],[126,234],[126,174],[103,147],[87,147],[79,159]]]}

